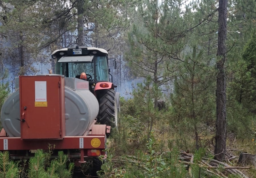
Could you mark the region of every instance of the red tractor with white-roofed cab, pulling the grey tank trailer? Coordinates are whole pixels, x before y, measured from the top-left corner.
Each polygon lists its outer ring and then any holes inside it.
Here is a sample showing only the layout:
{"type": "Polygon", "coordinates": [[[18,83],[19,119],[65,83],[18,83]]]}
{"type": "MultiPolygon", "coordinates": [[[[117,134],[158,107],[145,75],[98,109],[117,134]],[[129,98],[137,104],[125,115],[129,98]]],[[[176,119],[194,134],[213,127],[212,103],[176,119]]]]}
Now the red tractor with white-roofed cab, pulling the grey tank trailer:
{"type": "Polygon", "coordinates": [[[120,93],[115,92],[117,86],[113,84],[108,65],[109,60],[113,60],[116,69],[116,59],[108,59],[105,49],[84,46],[57,49],[52,58],[56,60],[56,74],[89,82],[89,90],[99,102],[98,123],[117,128],[120,93]]]}

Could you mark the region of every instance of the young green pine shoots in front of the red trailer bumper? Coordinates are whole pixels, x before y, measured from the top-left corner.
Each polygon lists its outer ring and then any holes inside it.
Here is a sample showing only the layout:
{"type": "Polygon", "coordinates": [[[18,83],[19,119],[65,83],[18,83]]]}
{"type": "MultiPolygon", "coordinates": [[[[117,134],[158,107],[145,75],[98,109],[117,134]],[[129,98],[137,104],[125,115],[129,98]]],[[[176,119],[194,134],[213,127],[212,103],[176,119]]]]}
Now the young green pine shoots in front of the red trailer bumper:
{"type": "Polygon", "coordinates": [[[37,150],[29,161],[14,161],[9,152],[0,152],[0,178],[72,178],[74,163],[68,163],[68,155],[59,151],[57,158],[49,156],[37,150]]]}

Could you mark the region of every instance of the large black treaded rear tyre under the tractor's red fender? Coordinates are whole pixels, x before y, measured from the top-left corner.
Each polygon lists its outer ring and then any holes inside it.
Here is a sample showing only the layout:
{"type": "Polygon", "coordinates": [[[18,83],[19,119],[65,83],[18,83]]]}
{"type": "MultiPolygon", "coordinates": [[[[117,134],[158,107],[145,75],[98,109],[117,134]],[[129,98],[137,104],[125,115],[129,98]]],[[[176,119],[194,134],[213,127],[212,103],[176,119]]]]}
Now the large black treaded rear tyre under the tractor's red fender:
{"type": "Polygon", "coordinates": [[[99,121],[101,124],[116,127],[117,101],[115,90],[107,89],[99,99],[99,121]]]}

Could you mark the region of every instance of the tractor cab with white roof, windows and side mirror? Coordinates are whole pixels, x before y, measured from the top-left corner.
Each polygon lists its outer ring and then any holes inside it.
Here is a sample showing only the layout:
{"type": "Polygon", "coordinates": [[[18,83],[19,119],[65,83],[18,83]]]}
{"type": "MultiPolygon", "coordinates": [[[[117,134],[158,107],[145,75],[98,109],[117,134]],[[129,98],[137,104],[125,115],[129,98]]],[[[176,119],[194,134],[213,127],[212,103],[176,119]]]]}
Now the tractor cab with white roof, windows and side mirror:
{"type": "MultiPolygon", "coordinates": [[[[92,92],[97,83],[109,82],[109,59],[105,49],[76,46],[55,50],[52,57],[56,59],[56,74],[81,79],[81,74],[84,72],[86,77],[82,80],[89,82],[92,92]]],[[[115,59],[113,65],[116,69],[115,59]]]]}

